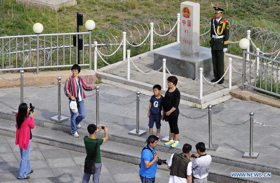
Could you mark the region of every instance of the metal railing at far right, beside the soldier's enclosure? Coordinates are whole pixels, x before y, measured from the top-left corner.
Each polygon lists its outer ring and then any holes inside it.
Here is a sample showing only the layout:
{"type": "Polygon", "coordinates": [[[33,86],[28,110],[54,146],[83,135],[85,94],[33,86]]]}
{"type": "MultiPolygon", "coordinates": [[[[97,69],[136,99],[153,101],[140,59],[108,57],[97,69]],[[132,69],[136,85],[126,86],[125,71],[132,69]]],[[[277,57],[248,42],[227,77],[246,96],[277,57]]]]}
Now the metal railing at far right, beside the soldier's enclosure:
{"type": "Polygon", "coordinates": [[[245,86],[249,86],[253,89],[280,97],[279,64],[280,61],[278,60],[244,50],[242,90],[245,90],[245,86]],[[246,59],[247,57],[249,57],[248,61],[246,59]],[[246,75],[246,71],[249,71],[249,75],[246,75]]]}

